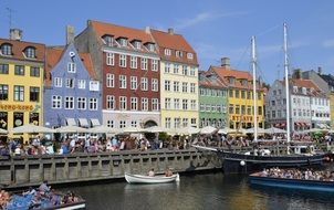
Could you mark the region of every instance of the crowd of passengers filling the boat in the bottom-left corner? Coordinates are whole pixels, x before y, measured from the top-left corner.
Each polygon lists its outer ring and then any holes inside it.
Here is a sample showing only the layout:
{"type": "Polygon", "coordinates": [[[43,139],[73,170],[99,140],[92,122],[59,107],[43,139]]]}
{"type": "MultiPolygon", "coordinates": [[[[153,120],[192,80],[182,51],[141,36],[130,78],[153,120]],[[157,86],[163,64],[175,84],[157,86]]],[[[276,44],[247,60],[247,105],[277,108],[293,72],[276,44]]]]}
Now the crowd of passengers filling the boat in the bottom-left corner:
{"type": "Polygon", "coordinates": [[[21,195],[0,190],[0,209],[39,209],[77,201],[80,199],[74,192],[56,192],[54,189],[51,189],[51,186],[48,186],[48,181],[43,181],[36,189],[30,187],[21,195]]]}

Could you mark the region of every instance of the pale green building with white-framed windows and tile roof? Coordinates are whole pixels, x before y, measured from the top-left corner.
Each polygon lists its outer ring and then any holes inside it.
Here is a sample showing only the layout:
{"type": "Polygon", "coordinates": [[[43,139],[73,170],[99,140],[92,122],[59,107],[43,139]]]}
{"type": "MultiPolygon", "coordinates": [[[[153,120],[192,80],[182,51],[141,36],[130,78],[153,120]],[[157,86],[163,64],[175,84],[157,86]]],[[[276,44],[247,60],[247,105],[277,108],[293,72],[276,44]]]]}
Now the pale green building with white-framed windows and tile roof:
{"type": "Polygon", "coordinates": [[[227,85],[208,72],[199,73],[199,127],[223,128],[228,123],[227,85]]]}

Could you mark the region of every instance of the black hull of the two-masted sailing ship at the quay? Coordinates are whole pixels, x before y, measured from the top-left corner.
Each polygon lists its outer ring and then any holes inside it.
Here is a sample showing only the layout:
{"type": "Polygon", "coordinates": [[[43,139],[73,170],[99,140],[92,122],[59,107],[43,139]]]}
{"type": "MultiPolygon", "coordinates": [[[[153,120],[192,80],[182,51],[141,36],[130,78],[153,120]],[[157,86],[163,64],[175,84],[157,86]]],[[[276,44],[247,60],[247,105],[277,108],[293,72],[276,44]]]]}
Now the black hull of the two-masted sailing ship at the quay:
{"type": "Polygon", "coordinates": [[[218,156],[223,160],[225,172],[249,174],[270,167],[293,168],[320,166],[323,164],[325,155],[254,156],[229,151],[218,151],[218,156]]]}

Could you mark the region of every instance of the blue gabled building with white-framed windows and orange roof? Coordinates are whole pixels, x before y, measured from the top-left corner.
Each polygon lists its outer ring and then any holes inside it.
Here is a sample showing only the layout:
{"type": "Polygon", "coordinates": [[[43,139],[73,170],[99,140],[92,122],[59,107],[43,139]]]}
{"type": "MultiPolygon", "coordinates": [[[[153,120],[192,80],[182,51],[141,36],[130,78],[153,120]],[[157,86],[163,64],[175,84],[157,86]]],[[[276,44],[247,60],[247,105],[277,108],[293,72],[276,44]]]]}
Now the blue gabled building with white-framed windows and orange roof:
{"type": "Polygon", "coordinates": [[[46,48],[43,122],[48,127],[92,127],[102,122],[101,83],[87,53],[71,43],[46,48]]]}

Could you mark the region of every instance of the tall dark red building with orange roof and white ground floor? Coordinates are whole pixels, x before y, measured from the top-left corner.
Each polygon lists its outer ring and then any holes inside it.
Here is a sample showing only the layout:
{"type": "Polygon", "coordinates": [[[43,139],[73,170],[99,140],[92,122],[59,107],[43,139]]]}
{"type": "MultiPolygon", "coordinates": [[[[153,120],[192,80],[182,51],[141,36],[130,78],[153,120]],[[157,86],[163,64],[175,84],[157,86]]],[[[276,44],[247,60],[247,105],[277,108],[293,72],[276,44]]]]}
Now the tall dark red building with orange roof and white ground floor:
{"type": "Polygon", "coordinates": [[[148,127],[160,122],[159,55],[149,29],[88,21],[75,38],[92,55],[103,95],[103,125],[148,127]]]}

